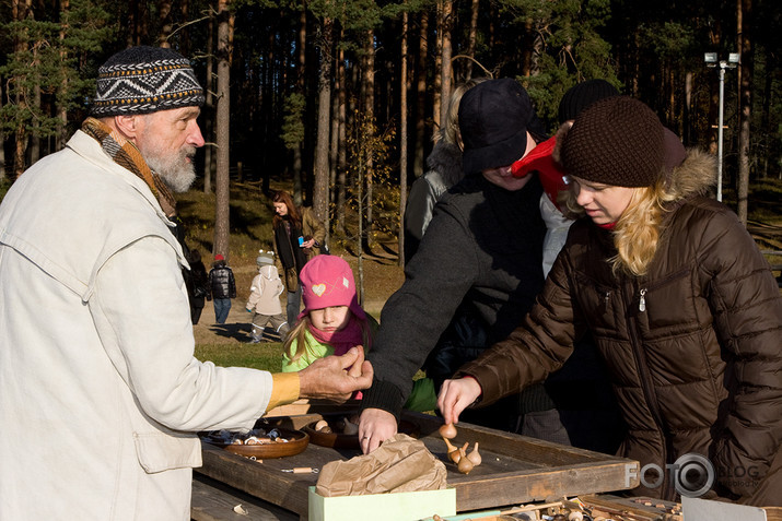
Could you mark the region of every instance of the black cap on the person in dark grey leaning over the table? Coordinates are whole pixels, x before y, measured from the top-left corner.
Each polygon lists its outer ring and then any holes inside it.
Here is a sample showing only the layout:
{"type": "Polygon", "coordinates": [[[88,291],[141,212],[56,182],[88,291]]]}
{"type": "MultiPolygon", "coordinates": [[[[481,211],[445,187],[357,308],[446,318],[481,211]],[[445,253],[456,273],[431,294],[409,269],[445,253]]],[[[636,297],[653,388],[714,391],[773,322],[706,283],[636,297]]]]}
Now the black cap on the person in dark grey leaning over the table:
{"type": "Polygon", "coordinates": [[[536,121],[529,95],[511,78],[489,80],[467,91],[459,103],[465,175],[518,159],[527,149],[527,127],[536,121]]]}

